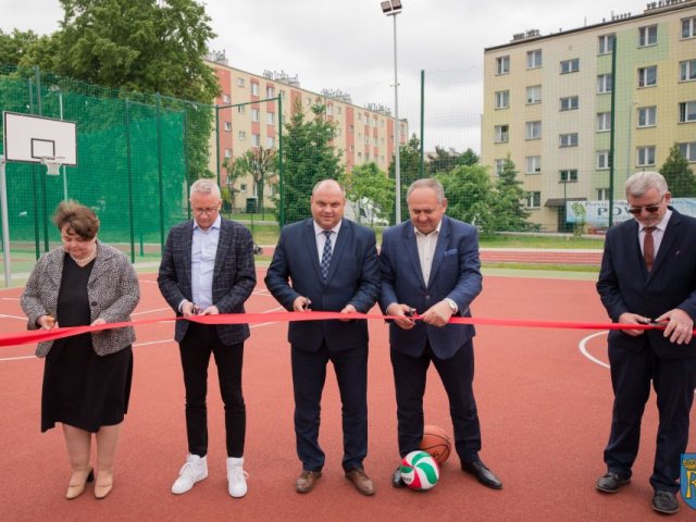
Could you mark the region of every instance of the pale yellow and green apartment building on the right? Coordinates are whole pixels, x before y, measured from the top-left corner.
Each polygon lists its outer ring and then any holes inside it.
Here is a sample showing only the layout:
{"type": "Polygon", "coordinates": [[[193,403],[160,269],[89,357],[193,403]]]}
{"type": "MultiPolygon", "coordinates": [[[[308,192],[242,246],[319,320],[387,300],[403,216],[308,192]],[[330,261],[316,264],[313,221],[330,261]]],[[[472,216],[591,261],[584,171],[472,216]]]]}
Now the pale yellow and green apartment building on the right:
{"type": "Polygon", "coordinates": [[[484,51],[482,161],[495,175],[510,156],[542,229],[568,231],[572,202],[623,200],[626,177],[659,170],[675,142],[696,167],[696,0],[636,3],[484,51]]]}

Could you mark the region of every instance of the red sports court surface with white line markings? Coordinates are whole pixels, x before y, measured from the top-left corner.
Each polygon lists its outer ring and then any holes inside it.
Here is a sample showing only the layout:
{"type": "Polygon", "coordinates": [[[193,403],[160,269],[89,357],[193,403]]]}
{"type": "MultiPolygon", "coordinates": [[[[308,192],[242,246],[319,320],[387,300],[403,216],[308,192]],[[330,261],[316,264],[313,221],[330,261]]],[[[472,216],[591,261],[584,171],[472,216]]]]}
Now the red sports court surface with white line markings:
{"type": "MultiPolygon", "coordinates": [[[[264,271],[248,303],[251,312],[277,309],[263,286],[264,271]]],[[[154,274],[141,277],[142,300],[134,319],[169,318],[154,274]]],[[[0,327],[25,327],[20,288],[0,290],[0,327]]],[[[549,321],[606,321],[588,281],[488,276],[474,302],[475,315],[549,321]]],[[[387,328],[370,324],[370,453],[374,497],[360,496],[343,476],[338,391],[330,371],[323,399],[321,443],[324,476],[308,495],[295,493],[300,471],[293,432],[293,393],[286,324],[252,326],[246,345],[244,387],[248,426],[245,450],[249,493],[227,495],[223,409],[214,363],[209,389],[209,477],[182,496],[170,493],[186,456],[184,385],[173,324],[139,327],[130,411],[119,448],[113,493],[98,501],[88,487],[63,498],[70,469],[62,433],[39,432],[42,362],[34,346],[0,348],[0,513],[2,520],[234,520],[234,521],[438,521],[659,520],[650,507],[657,412],[651,399],[631,485],[618,495],[594,488],[611,415],[606,336],[581,330],[478,327],[474,382],[483,430],[481,457],[504,481],[502,490],[481,486],[459,470],[457,457],[443,467],[427,493],[394,489],[398,463],[396,406],[387,328]],[[594,357],[591,360],[582,353],[594,357]]],[[[692,413],[692,424],[694,424],[692,413]]],[[[425,422],[451,435],[447,400],[434,370],[425,398],[425,422]]],[[[692,440],[694,438],[692,437],[692,440]]],[[[696,451],[692,443],[689,451],[696,451]]],[[[681,500],[671,520],[694,520],[681,500]]]]}

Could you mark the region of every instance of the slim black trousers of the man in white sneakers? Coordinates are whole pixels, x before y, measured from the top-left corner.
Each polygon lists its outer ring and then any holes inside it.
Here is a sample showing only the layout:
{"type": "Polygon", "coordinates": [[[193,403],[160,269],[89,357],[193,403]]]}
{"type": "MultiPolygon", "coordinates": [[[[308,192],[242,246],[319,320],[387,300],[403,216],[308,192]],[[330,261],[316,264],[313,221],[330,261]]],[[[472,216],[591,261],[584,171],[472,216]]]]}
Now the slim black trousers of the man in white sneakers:
{"type": "Polygon", "coordinates": [[[215,357],[220,395],[225,405],[227,457],[243,457],[247,410],[241,394],[244,343],[225,346],[215,326],[191,322],[179,344],[184,385],[186,387],[186,435],[188,452],[208,453],[208,364],[215,357]]]}

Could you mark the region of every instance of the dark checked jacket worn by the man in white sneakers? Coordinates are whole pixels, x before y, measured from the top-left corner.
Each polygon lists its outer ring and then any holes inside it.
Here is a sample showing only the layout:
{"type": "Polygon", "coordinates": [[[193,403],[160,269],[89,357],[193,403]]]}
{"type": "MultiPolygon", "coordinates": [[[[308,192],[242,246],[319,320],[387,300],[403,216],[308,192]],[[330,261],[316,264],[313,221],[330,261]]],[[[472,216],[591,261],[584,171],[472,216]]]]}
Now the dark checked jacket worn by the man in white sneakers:
{"type": "MultiPolygon", "coordinates": [[[[158,285],[166,302],[177,315],[183,299],[192,301],[191,243],[194,222],[181,223],[170,231],[162,254],[158,285]]],[[[213,304],[220,313],[244,313],[244,303],[257,283],[253,265],[253,240],[249,231],[234,221],[222,219],[213,271],[213,304]]],[[[220,340],[231,346],[249,337],[247,324],[215,326],[220,340]]],[[[181,343],[188,321],[177,321],[174,338],[181,343]]]]}

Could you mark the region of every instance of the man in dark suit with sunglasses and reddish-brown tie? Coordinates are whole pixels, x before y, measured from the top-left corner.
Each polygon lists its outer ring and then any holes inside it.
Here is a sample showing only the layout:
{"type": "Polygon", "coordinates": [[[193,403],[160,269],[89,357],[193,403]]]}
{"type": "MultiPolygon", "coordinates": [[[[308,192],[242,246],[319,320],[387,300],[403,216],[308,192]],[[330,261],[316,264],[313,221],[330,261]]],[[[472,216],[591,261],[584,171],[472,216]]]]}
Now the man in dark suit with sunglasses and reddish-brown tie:
{"type": "Polygon", "coordinates": [[[614,401],[607,473],[597,489],[617,493],[631,481],[652,381],[660,412],[652,509],[670,514],[679,511],[680,456],[696,387],[696,220],[669,206],[667,182],[657,172],[629,177],[625,194],[635,219],[607,233],[597,290],[614,323],[666,328],[609,333],[614,401]]]}

